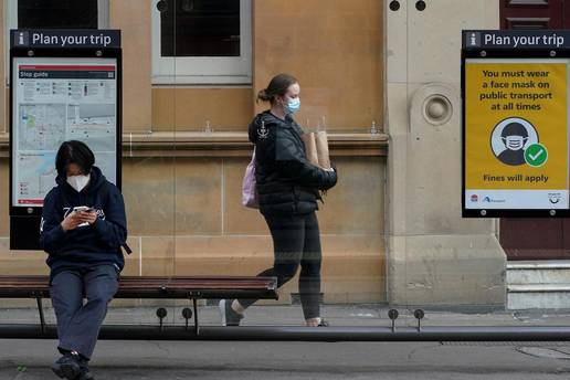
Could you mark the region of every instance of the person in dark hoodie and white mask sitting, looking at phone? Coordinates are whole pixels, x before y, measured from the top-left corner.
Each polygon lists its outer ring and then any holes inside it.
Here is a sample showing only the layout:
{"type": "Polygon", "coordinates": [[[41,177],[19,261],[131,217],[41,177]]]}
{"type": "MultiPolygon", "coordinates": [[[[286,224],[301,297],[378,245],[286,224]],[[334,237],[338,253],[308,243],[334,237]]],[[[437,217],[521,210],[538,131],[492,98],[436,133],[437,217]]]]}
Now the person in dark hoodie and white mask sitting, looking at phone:
{"type": "Polygon", "coordinates": [[[125,264],[123,196],[94,163],[84,142],[62,144],[55,158],[57,186],[45,197],[40,226],[63,355],[52,370],[66,379],[93,379],[87,362],[125,264]]]}

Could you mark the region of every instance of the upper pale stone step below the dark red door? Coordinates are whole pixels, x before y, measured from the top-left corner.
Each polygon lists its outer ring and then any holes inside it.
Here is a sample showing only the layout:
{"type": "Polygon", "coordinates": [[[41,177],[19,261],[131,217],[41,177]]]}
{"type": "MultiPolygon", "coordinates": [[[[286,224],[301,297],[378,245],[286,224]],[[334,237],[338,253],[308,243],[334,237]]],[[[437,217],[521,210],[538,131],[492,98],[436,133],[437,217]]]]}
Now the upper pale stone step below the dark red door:
{"type": "Polygon", "coordinates": [[[570,261],[524,261],[507,263],[507,285],[570,285],[570,261]]]}

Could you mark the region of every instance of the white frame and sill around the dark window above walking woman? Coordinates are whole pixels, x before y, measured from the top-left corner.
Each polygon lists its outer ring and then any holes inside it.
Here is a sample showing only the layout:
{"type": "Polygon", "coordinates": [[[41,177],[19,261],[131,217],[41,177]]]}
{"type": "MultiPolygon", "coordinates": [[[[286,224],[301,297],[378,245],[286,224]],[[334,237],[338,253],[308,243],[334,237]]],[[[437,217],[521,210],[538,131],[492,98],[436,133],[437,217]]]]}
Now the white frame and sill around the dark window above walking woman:
{"type": "Polygon", "coordinates": [[[252,84],[252,0],[240,0],[240,56],[167,57],[160,55],[159,1],[150,0],[152,84],[252,84]]]}

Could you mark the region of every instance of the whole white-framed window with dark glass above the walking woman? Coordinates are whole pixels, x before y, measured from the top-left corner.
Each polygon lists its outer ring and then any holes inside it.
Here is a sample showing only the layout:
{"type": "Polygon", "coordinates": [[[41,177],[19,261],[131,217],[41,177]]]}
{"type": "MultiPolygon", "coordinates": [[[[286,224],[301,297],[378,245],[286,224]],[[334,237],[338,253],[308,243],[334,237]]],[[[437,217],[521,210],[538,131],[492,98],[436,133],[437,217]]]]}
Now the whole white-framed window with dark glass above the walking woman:
{"type": "Polygon", "coordinates": [[[151,0],[151,12],[154,83],[251,83],[251,0],[151,0]]]}

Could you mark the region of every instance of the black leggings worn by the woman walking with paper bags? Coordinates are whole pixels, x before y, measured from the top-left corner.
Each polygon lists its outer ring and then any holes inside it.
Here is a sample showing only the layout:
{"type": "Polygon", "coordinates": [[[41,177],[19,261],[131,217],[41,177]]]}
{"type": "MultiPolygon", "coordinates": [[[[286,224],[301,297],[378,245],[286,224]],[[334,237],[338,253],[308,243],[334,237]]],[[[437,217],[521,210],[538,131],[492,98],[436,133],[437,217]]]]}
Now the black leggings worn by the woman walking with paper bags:
{"type": "MultiPolygon", "coordinates": [[[[273,238],[274,264],[257,276],[277,277],[277,287],[292,279],[300,265],[299,295],[305,319],[320,316],[320,233],[315,212],[306,215],[271,217],[265,221],[273,238]]],[[[247,307],[257,299],[239,299],[247,307]]]]}

